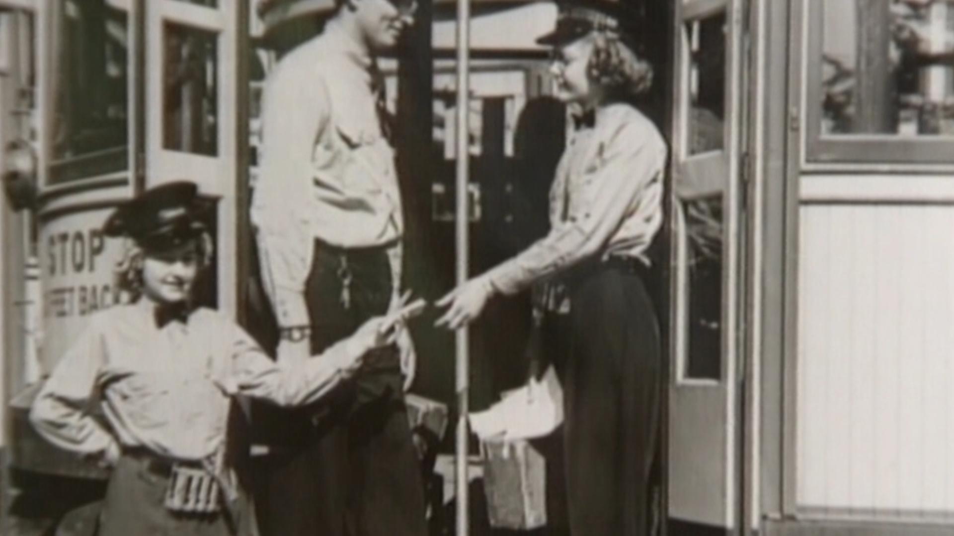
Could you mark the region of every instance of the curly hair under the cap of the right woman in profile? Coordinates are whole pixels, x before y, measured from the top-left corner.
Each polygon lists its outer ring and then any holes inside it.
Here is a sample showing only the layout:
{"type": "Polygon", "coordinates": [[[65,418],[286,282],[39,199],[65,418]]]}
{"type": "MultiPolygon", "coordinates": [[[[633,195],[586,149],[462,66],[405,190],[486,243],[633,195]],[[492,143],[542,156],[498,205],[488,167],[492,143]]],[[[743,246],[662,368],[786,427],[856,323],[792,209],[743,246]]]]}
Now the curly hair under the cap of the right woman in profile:
{"type": "Polygon", "coordinates": [[[606,89],[608,97],[626,100],[648,92],[653,86],[653,65],[637,54],[617,31],[592,31],[590,42],[587,73],[606,89]]]}

